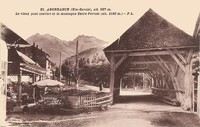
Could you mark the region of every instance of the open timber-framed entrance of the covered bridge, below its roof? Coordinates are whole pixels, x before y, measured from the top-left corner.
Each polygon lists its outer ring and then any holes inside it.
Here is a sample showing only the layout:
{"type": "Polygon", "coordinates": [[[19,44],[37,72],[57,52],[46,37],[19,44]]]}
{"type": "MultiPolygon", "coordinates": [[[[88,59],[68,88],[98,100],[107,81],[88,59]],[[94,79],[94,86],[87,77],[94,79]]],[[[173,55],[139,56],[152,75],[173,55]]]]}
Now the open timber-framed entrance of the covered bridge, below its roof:
{"type": "Polygon", "coordinates": [[[152,95],[168,104],[182,106],[184,110],[196,111],[192,103],[195,98],[192,95],[194,76],[191,63],[196,50],[197,47],[184,47],[111,53],[110,90],[113,102],[131,88],[134,95],[147,82],[152,95]],[[125,85],[126,82],[128,85],[125,85]]]}

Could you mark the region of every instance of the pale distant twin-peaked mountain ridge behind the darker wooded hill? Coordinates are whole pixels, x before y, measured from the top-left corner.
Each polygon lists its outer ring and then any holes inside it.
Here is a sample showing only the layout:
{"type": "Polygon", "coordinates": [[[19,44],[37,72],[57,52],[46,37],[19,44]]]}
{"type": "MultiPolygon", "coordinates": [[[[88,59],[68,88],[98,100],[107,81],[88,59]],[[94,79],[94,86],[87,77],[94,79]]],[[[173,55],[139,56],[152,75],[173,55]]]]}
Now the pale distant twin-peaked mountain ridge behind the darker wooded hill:
{"type": "Polygon", "coordinates": [[[41,35],[39,33],[30,36],[27,42],[35,43],[39,48],[50,55],[50,60],[58,66],[60,64],[60,52],[62,52],[62,61],[75,54],[76,42],[79,42],[79,52],[92,48],[105,47],[108,43],[93,36],[79,35],[73,41],[61,40],[49,34],[41,35]]]}

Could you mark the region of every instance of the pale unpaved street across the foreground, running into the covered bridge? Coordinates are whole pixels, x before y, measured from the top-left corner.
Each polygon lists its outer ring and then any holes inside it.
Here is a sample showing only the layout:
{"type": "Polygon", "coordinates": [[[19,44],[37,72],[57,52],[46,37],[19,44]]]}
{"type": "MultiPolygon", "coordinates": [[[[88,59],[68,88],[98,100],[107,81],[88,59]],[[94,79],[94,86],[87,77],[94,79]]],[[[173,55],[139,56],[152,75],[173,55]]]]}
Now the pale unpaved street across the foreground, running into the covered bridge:
{"type": "Polygon", "coordinates": [[[12,126],[22,127],[199,127],[196,114],[166,105],[151,95],[122,97],[106,111],[78,115],[11,114],[12,126]],[[127,98],[127,99],[126,99],[127,98]]]}

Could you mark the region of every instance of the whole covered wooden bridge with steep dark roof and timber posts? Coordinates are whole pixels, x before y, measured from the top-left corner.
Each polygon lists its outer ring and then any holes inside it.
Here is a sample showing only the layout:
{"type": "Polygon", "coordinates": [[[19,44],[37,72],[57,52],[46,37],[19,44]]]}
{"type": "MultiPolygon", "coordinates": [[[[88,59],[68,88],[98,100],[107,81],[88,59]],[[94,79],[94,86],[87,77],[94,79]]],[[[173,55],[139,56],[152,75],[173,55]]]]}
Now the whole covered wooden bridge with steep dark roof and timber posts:
{"type": "Polygon", "coordinates": [[[174,101],[185,110],[195,109],[192,75],[193,55],[198,42],[148,10],[115,42],[104,49],[111,63],[110,91],[113,99],[120,94],[120,80],[127,72],[151,77],[152,93],[174,101]]]}

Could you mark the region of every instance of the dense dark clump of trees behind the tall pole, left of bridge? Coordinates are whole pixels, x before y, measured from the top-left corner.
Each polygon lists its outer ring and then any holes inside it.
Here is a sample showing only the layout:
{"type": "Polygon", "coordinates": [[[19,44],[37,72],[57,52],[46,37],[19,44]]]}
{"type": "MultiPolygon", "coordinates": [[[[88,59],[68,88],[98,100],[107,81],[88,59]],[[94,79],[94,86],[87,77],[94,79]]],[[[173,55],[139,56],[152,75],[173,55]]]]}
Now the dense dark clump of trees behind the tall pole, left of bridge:
{"type": "Polygon", "coordinates": [[[109,84],[110,65],[106,62],[105,57],[94,54],[91,58],[80,57],[78,59],[78,67],[75,67],[75,59],[72,57],[62,65],[62,75],[69,82],[73,79],[75,83],[79,79],[92,83],[96,86],[99,83],[109,84]],[[91,61],[91,63],[90,63],[91,61]],[[76,73],[78,69],[78,74],[76,73]]]}

